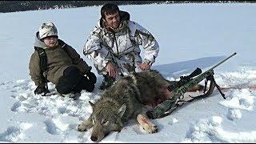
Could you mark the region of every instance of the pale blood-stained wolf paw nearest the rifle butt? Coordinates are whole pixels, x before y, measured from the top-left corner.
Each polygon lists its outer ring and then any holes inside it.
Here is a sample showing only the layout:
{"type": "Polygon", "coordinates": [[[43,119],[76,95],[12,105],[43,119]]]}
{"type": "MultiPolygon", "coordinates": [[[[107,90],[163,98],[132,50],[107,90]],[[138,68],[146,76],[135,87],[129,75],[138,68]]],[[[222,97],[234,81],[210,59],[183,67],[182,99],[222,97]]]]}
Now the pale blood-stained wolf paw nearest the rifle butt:
{"type": "Polygon", "coordinates": [[[142,126],[146,133],[156,133],[158,132],[158,126],[154,125],[145,114],[138,114],[137,116],[138,123],[142,126]]]}

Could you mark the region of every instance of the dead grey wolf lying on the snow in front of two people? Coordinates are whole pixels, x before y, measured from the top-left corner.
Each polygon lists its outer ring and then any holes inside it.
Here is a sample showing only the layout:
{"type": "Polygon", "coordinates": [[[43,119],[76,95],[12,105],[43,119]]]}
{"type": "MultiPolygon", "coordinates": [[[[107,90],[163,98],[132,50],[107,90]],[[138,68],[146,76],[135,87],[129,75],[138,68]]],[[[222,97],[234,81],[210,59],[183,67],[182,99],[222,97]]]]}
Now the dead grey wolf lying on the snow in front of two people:
{"type": "MultiPolygon", "coordinates": [[[[78,126],[79,131],[93,127],[90,139],[99,142],[111,131],[120,131],[130,118],[136,118],[146,133],[155,133],[158,126],[146,116],[149,106],[171,98],[167,90],[170,81],[162,77],[157,70],[146,70],[119,78],[113,86],[102,92],[95,103],[89,102],[93,112],[86,121],[78,126]]],[[[202,90],[203,86],[194,86],[192,90],[202,90]]]]}

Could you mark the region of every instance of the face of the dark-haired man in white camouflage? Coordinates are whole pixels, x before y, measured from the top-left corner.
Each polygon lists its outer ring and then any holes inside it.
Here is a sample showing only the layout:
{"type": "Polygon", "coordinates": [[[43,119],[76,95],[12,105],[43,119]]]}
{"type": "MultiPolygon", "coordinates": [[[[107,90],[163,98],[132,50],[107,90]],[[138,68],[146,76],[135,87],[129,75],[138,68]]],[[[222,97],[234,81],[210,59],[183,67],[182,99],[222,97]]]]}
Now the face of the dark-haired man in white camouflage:
{"type": "Polygon", "coordinates": [[[105,14],[106,26],[111,27],[112,29],[118,28],[120,24],[120,16],[118,11],[114,14],[105,14]]]}

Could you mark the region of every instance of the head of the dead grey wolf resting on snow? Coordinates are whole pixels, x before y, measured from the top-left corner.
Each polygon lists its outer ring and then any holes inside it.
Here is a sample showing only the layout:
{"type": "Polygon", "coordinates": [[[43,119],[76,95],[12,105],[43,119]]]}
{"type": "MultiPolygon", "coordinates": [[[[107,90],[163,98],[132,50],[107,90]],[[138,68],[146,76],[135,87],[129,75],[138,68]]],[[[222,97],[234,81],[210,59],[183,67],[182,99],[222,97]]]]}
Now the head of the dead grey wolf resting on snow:
{"type": "Polygon", "coordinates": [[[126,111],[126,104],[119,106],[111,106],[110,103],[102,106],[95,106],[89,102],[93,108],[91,114],[91,121],[93,123],[93,130],[90,139],[94,142],[99,142],[110,134],[111,131],[121,131],[123,127],[122,116],[126,111]]]}

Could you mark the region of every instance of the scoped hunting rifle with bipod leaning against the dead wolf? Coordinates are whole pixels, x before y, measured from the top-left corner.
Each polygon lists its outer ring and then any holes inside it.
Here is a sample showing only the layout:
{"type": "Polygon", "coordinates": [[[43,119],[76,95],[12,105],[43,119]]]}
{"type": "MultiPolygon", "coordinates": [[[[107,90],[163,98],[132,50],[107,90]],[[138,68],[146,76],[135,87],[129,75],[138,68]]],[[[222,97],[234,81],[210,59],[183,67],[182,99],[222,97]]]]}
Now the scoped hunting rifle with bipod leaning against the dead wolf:
{"type": "Polygon", "coordinates": [[[225,94],[222,93],[220,87],[216,84],[214,80],[214,68],[219,66],[229,58],[233,57],[235,54],[237,53],[234,52],[234,54],[231,54],[229,57],[225,58],[221,62],[218,62],[216,65],[212,66],[209,70],[206,70],[204,73],[202,73],[202,70],[200,68],[197,68],[190,75],[180,77],[180,80],[178,82],[170,83],[170,86],[168,86],[167,89],[171,92],[174,92],[174,96],[158,104],[158,106],[155,106],[152,110],[148,110],[146,112],[147,116],[152,119],[165,117],[166,115],[169,115],[171,112],[173,112],[178,106],[181,106],[178,104],[178,102],[192,102],[198,98],[205,98],[206,96],[212,94],[215,86],[217,87],[218,91],[222,94],[222,97],[226,99],[225,94]],[[195,76],[197,77],[194,78],[195,76]],[[192,99],[190,99],[189,101],[182,100],[184,98],[184,94],[186,93],[187,90],[189,90],[190,87],[197,85],[205,78],[206,82],[203,92],[204,94],[196,97],[190,96],[192,99]],[[206,86],[208,81],[210,81],[210,86],[209,90],[206,92],[206,86]]]}

